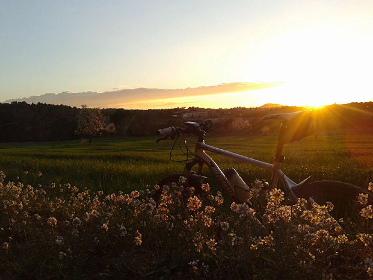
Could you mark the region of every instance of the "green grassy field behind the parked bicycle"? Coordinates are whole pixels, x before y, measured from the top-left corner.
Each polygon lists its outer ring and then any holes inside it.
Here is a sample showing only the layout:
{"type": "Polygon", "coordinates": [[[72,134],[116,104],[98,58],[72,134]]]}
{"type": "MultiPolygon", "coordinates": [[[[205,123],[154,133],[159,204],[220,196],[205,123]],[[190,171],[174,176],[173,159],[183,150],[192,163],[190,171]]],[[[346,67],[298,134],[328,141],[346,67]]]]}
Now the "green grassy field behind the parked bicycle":
{"type": "MultiPolygon", "coordinates": [[[[144,189],[146,184],[156,184],[167,174],[182,172],[184,167],[169,159],[172,141],[156,144],[155,140],[154,137],[94,139],[91,146],[82,146],[80,140],[1,143],[0,170],[6,173],[7,180],[33,186],[70,183],[105,192],[144,189]],[[25,175],[24,171],[29,174],[25,175]],[[37,171],[43,175],[37,177],[37,171]]],[[[272,162],[276,137],[206,137],[206,143],[272,162]]],[[[192,141],[190,146],[194,147],[192,141]]],[[[283,154],[286,155],[283,171],[296,182],[313,175],[314,181],[340,180],[366,187],[373,178],[372,135],[319,136],[317,139],[310,136],[286,145],[283,154]]],[[[178,148],[175,158],[183,159],[178,148]]],[[[247,182],[269,178],[261,169],[219,156],[213,158],[222,168],[235,167],[247,182]]],[[[214,185],[213,180],[210,183],[214,185]]]]}

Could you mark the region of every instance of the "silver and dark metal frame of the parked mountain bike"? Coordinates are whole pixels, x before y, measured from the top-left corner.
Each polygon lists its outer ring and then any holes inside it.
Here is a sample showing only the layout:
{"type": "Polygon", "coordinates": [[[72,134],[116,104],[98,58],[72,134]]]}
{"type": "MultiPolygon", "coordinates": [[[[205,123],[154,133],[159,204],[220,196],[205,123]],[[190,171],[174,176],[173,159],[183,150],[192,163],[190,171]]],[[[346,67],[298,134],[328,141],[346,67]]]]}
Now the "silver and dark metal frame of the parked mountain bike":
{"type": "MultiPolygon", "coordinates": [[[[223,171],[219,168],[219,166],[216,164],[216,162],[209,156],[205,151],[216,153],[218,155],[224,156],[226,158],[232,158],[236,161],[244,162],[245,164],[254,165],[260,168],[267,169],[272,173],[272,178],[270,182],[270,189],[273,189],[277,187],[278,180],[282,182],[282,184],[285,186],[286,192],[288,192],[291,197],[294,200],[297,200],[297,197],[294,195],[294,193],[291,191],[291,189],[296,186],[297,184],[292,181],[289,177],[287,177],[281,170],[281,163],[282,161],[279,160],[279,157],[277,155],[280,155],[282,152],[282,145],[278,145],[275,162],[274,164],[269,164],[263,161],[258,161],[253,158],[249,158],[247,156],[242,156],[233,152],[229,152],[227,150],[219,149],[210,145],[207,145],[203,141],[197,141],[195,146],[195,156],[196,160],[192,161],[189,164],[185,165],[184,175],[186,177],[186,180],[189,180],[190,172],[192,167],[198,163],[198,175],[202,174],[203,171],[203,165],[206,164],[207,167],[209,167],[210,171],[214,174],[216,177],[216,180],[219,182],[220,186],[228,193],[229,197],[233,201],[237,201],[236,195],[226,178],[223,171]]],[[[308,178],[307,178],[308,179],[308,178]]],[[[306,180],[307,180],[306,179],[306,180]]],[[[304,180],[301,183],[304,183],[306,180],[304,180]]]]}

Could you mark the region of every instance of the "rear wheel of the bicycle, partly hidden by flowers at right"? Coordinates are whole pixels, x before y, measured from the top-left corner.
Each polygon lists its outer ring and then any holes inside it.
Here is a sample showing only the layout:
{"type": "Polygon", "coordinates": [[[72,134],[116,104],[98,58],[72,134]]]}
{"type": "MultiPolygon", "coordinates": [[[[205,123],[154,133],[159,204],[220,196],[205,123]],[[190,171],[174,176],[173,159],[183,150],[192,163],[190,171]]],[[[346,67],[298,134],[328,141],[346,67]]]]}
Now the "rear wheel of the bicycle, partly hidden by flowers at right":
{"type": "Polygon", "coordinates": [[[373,205],[373,196],[364,189],[352,184],[339,181],[317,181],[310,184],[295,186],[292,191],[297,197],[308,199],[312,197],[319,205],[327,201],[333,203],[334,208],[329,213],[333,218],[343,218],[351,224],[358,225],[364,222],[360,215],[362,208],[373,205]],[[358,202],[359,194],[367,196],[367,204],[358,202]]]}

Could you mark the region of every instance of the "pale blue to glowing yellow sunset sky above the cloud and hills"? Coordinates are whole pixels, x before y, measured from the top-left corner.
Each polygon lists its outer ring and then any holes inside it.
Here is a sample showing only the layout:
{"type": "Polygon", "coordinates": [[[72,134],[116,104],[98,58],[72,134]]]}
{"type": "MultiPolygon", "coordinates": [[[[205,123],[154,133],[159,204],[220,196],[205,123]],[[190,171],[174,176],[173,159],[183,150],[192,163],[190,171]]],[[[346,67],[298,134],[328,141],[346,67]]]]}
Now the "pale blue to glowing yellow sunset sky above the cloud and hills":
{"type": "Polygon", "coordinates": [[[138,91],[134,108],[370,101],[372,15],[372,0],[2,0],[0,101],[136,88],[170,94],[138,91]],[[174,95],[235,82],[280,85],[174,95]]]}

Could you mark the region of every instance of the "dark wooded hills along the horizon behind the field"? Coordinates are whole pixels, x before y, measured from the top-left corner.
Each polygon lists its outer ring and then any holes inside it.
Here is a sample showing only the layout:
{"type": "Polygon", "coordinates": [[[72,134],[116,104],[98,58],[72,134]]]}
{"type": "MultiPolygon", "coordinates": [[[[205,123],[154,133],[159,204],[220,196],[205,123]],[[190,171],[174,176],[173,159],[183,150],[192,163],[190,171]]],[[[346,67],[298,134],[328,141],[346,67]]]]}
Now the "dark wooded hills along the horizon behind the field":
{"type": "MultiPolygon", "coordinates": [[[[150,110],[102,109],[105,122],[116,127],[116,136],[150,136],[159,128],[182,126],[190,117],[185,113],[207,112],[207,117],[226,119],[209,134],[270,134],[279,130],[276,121],[263,123],[260,119],[270,113],[288,113],[303,107],[275,108],[174,108],[150,110]]],[[[0,141],[60,141],[77,139],[76,115],[80,109],[65,105],[25,102],[0,103],[0,141]]],[[[373,102],[330,105],[313,111],[316,129],[322,133],[373,133],[373,102]]],[[[193,118],[200,121],[202,118],[193,118]]]]}

